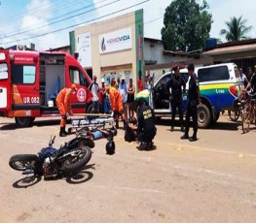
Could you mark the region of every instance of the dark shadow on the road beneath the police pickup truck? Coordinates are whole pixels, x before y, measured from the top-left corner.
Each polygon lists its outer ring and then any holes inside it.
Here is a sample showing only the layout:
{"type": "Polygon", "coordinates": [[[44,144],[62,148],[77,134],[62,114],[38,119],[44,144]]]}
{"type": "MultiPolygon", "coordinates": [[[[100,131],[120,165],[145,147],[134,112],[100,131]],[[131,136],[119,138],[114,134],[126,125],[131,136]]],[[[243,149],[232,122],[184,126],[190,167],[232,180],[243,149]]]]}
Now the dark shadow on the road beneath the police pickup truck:
{"type": "MultiPolygon", "coordinates": [[[[169,127],[167,129],[167,131],[170,130],[170,119],[161,119],[158,120],[156,122],[157,125],[163,125],[163,126],[167,126],[169,127]]],[[[174,131],[179,131],[180,130],[180,126],[179,126],[179,121],[175,120],[174,122],[174,131]]],[[[192,126],[192,125],[190,125],[192,126]]],[[[216,122],[215,124],[212,124],[208,130],[228,130],[228,131],[238,131],[239,127],[241,126],[241,122],[240,121],[235,121],[235,122],[231,122],[229,120],[227,120],[227,122],[216,122]]]]}

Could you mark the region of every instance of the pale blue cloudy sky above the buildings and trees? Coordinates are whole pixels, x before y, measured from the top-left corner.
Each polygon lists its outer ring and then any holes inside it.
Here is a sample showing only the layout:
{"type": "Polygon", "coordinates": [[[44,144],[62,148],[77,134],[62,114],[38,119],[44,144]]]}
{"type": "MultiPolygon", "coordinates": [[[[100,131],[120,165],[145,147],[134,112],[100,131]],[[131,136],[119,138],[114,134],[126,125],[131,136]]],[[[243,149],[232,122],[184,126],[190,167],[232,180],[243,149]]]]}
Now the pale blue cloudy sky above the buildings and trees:
{"type": "MultiPolygon", "coordinates": [[[[69,31],[77,25],[120,16],[144,9],[145,37],[161,39],[165,8],[171,0],[0,0],[0,47],[29,45],[37,49],[69,45],[69,31]],[[136,5],[136,6],[135,6],[136,5]],[[109,16],[108,16],[109,15],[109,16]],[[62,31],[60,31],[62,29],[62,31]],[[49,33],[48,35],[45,35],[49,33]],[[36,37],[38,36],[38,37],[36,37]]],[[[199,0],[201,2],[201,0],[199,0]]],[[[256,38],[253,0],[207,0],[212,14],[210,36],[219,35],[231,16],[242,16],[253,29],[248,34],[256,38]]]]}

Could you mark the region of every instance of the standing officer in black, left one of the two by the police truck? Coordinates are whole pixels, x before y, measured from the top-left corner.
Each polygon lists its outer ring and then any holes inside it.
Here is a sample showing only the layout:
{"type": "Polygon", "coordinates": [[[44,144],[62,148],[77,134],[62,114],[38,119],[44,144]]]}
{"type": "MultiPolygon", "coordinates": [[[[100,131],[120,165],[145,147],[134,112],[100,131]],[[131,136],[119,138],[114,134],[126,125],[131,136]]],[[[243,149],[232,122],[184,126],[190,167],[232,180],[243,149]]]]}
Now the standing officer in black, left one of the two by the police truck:
{"type": "Polygon", "coordinates": [[[186,92],[186,81],[179,74],[179,67],[175,66],[172,69],[174,75],[171,76],[167,83],[167,90],[170,92],[170,104],[171,104],[171,128],[170,131],[174,130],[174,121],[176,116],[176,109],[179,112],[179,121],[181,131],[184,132],[183,128],[183,111],[182,111],[182,94],[186,92]]]}

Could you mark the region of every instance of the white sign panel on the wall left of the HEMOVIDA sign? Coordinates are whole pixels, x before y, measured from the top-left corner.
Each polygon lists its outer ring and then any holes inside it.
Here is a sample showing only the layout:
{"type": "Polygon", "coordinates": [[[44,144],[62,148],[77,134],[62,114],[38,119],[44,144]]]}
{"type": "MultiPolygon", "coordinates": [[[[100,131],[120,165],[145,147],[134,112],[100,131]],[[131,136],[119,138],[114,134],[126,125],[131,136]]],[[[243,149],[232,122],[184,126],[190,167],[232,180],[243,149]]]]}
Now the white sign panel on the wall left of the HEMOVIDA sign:
{"type": "Polygon", "coordinates": [[[83,67],[91,67],[91,33],[83,33],[76,38],[78,61],[83,67]]]}

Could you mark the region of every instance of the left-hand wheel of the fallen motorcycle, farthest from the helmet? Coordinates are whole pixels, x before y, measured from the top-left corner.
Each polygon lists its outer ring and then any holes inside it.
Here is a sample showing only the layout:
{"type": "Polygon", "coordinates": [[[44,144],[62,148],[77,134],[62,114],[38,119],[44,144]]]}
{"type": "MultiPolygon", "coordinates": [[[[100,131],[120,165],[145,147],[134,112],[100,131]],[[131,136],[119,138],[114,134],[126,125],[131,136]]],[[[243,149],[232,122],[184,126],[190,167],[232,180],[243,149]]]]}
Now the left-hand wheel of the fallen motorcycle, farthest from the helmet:
{"type": "Polygon", "coordinates": [[[35,154],[18,154],[9,160],[9,165],[16,171],[33,170],[35,171],[40,163],[40,159],[35,154]]]}

